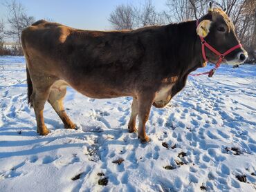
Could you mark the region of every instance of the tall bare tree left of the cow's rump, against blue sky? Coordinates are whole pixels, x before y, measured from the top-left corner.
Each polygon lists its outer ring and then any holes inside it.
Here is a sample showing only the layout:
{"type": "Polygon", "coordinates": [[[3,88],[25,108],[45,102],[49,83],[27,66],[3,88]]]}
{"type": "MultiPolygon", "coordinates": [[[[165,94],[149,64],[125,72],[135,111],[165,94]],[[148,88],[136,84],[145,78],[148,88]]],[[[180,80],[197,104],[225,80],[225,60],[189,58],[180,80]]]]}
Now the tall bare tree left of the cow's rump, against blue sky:
{"type": "Polygon", "coordinates": [[[24,28],[30,26],[35,19],[34,17],[29,17],[24,6],[16,0],[6,1],[4,5],[8,9],[7,21],[10,25],[10,29],[6,31],[6,34],[17,41],[19,48],[21,48],[21,32],[24,28]]]}

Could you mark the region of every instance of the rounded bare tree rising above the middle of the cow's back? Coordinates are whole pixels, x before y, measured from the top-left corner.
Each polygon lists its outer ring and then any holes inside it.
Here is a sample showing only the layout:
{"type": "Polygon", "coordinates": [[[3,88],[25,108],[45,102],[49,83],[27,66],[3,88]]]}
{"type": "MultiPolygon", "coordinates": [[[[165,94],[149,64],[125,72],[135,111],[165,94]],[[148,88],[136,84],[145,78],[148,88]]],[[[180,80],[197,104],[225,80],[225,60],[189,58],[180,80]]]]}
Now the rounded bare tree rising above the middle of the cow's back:
{"type": "Polygon", "coordinates": [[[111,12],[109,22],[115,30],[131,30],[135,25],[134,8],[130,5],[120,5],[111,12]]]}

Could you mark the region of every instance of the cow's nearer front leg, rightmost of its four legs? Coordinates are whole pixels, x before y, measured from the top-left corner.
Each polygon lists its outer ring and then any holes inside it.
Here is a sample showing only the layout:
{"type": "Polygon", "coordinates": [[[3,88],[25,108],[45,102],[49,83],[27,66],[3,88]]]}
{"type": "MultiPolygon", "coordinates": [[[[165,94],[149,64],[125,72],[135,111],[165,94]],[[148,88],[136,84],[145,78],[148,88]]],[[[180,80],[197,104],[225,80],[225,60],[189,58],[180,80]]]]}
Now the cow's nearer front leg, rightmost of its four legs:
{"type": "Polygon", "coordinates": [[[154,94],[144,93],[138,97],[138,138],[140,142],[145,144],[150,141],[149,137],[146,134],[146,122],[149,119],[149,113],[154,102],[154,94]]]}

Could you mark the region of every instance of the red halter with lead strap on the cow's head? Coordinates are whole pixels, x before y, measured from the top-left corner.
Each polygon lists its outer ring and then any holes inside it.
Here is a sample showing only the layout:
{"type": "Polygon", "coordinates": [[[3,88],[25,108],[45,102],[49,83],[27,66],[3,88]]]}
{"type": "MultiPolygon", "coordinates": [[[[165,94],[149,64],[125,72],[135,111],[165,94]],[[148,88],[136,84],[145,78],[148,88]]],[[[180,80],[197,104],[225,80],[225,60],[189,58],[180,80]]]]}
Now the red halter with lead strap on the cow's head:
{"type": "MultiPolygon", "coordinates": [[[[199,25],[199,20],[196,21],[196,27],[199,25]]],[[[208,59],[206,58],[205,55],[205,46],[210,49],[212,52],[214,52],[216,55],[219,56],[219,60],[217,61],[217,64],[215,64],[214,68],[212,68],[212,70],[208,71],[208,72],[204,72],[204,73],[198,73],[198,74],[190,74],[192,76],[199,76],[199,75],[206,75],[208,74],[208,77],[212,77],[212,75],[214,74],[215,70],[217,70],[217,68],[219,68],[219,66],[221,65],[221,61],[224,59],[224,57],[226,55],[228,55],[230,52],[232,52],[233,50],[237,49],[237,48],[241,48],[241,44],[238,44],[236,46],[233,46],[232,48],[230,48],[229,50],[227,50],[224,53],[220,53],[219,51],[217,51],[216,49],[214,49],[212,46],[210,46],[205,39],[203,39],[203,37],[199,36],[201,39],[201,44],[202,44],[202,55],[203,55],[203,59],[205,60],[205,62],[208,62],[208,59]]]]}

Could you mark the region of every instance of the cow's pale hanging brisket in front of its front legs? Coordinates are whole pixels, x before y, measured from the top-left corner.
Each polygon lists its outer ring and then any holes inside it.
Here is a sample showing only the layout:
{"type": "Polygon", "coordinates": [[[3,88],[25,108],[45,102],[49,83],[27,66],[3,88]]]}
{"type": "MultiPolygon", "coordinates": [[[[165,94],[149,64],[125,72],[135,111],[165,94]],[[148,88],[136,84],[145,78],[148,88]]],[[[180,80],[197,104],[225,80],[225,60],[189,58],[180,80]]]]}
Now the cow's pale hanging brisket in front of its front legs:
{"type": "Polygon", "coordinates": [[[154,99],[153,106],[155,106],[156,108],[163,108],[164,106],[166,106],[172,99],[171,90],[173,86],[174,84],[170,86],[165,86],[158,90],[154,99]]]}

